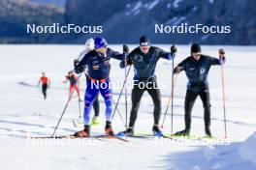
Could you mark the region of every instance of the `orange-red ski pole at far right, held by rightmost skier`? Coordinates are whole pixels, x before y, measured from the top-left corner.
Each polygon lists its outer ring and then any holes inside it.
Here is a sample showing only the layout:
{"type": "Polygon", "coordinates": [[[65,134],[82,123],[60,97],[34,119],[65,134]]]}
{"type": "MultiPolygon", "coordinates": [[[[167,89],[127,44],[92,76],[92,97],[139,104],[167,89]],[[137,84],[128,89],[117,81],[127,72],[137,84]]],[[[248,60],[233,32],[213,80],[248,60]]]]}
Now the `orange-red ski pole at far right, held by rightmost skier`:
{"type": "MultiPolygon", "coordinates": [[[[219,54],[224,55],[225,51],[223,49],[219,49],[219,54]]],[[[225,103],[225,82],[224,82],[224,67],[223,67],[223,59],[220,59],[221,65],[221,88],[222,88],[222,104],[223,104],[223,113],[224,113],[224,130],[225,130],[225,138],[227,138],[227,119],[226,119],[226,103],[225,103]]]]}

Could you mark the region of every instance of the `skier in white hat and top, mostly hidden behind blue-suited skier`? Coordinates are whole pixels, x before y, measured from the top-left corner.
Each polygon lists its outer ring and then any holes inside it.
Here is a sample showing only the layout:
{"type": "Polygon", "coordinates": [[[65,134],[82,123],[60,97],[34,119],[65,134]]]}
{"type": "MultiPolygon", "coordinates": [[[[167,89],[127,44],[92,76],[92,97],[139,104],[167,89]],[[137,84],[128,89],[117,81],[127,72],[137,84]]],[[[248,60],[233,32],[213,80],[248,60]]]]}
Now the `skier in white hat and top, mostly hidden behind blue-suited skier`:
{"type": "MultiPolygon", "coordinates": [[[[80,52],[79,57],[74,60],[74,66],[78,66],[82,58],[91,50],[94,49],[94,40],[92,38],[86,40],[85,42],[85,49],[80,52]]],[[[86,80],[88,79],[88,73],[85,72],[85,77],[86,80]]],[[[99,125],[100,120],[99,120],[99,115],[100,115],[100,102],[99,102],[99,93],[97,93],[96,98],[94,99],[93,102],[93,109],[94,109],[94,116],[92,117],[91,123],[92,125],[99,125]]]]}

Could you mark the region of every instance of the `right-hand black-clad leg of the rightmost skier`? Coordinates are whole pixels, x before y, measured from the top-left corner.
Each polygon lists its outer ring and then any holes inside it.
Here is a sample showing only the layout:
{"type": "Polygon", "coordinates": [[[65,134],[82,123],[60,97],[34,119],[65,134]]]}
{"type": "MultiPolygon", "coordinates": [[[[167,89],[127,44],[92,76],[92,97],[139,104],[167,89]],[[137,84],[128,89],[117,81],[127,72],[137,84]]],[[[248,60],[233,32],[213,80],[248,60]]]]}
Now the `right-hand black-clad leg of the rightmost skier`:
{"type": "Polygon", "coordinates": [[[210,136],[210,101],[209,101],[209,92],[208,90],[200,93],[200,98],[202,99],[204,105],[204,119],[205,119],[205,129],[206,133],[210,136]]]}

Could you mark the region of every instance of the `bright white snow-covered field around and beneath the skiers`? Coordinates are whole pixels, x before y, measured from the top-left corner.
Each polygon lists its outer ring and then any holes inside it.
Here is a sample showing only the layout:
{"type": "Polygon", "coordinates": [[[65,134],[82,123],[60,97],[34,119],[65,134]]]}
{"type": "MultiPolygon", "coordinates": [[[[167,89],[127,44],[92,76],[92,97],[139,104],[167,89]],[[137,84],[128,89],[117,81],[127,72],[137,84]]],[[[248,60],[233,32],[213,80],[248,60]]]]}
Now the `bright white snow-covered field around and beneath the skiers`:
{"type": "MultiPolygon", "coordinates": [[[[112,45],[121,50],[122,45],[112,45]]],[[[133,48],[135,46],[131,46],[133,48]]],[[[161,45],[169,50],[169,45],[161,45]]],[[[68,98],[68,84],[63,84],[67,71],[73,69],[73,60],[83,49],[82,45],[0,45],[0,169],[256,169],[256,47],[248,46],[202,46],[203,53],[217,57],[220,47],[226,50],[224,68],[226,85],[228,139],[224,140],[223,108],[220,67],[212,67],[209,75],[211,98],[211,131],[225,145],[212,141],[140,139],[128,138],[129,143],[103,139],[27,139],[28,135],[50,135],[68,98]],[[44,100],[37,87],[41,72],[51,80],[48,99],[44,100]],[[246,138],[250,138],[246,140],[246,138]],[[41,142],[41,143],[40,143],[41,142]],[[254,151],[254,152],[253,152],[254,151]],[[254,164],[253,164],[254,163],[254,164]]],[[[189,55],[188,45],[177,45],[175,65],[189,55]]],[[[124,70],[119,61],[112,59],[112,81],[123,80],[124,70]]],[[[158,82],[166,84],[162,93],[162,118],[171,92],[172,62],[160,60],[156,68],[158,82]]],[[[132,79],[131,71],[129,80],[132,79]]],[[[177,75],[174,100],[174,131],[184,128],[183,100],[186,90],[184,72],[177,75]]],[[[84,92],[81,76],[81,91],[84,92]]],[[[113,89],[114,100],[119,89],[113,89]]],[[[128,110],[131,108],[131,90],[128,91],[128,110]]],[[[101,126],[92,127],[92,134],[104,133],[103,99],[101,103],[101,126]]],[[[118,105],[124,117],[124,98],[118,105]]],[[[136,123],[136,133],[151,133],[153,103],[145,93],[136,123]]],[[[163,131],[170,134],[171,116],[167,116],[163,131]]],[[[196,101],[192,113],[192,134],[204,135],[203,106],[196,101]]],[[[57,130],[58,135],[71,134],[73,119],[79,117],[78,98],[74,98],[57,130]]],[[[162,123],[162,120],[161,120],[162,123]]],[[[116,113],[113,130],[123,130],[116,113]]]]}

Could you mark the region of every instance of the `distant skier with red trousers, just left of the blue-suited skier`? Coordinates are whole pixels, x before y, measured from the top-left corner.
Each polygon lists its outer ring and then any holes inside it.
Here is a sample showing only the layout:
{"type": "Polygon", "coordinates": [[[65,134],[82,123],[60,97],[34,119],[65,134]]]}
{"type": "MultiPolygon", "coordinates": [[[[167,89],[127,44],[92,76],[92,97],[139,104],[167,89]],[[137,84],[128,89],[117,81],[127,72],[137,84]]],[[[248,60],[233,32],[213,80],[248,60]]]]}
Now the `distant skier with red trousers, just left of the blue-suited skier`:
{"type": "Polygon", "coordinates": [[[74,73],[74,71],[69,71],[68,75],[66,75],[66,79],[63,81],[63,83],[70,82],[70,88],[69,88],[69,99],[72,98],[73,91],[76,90],[80,99],[80,81],[79,77],[74,73]]]}

